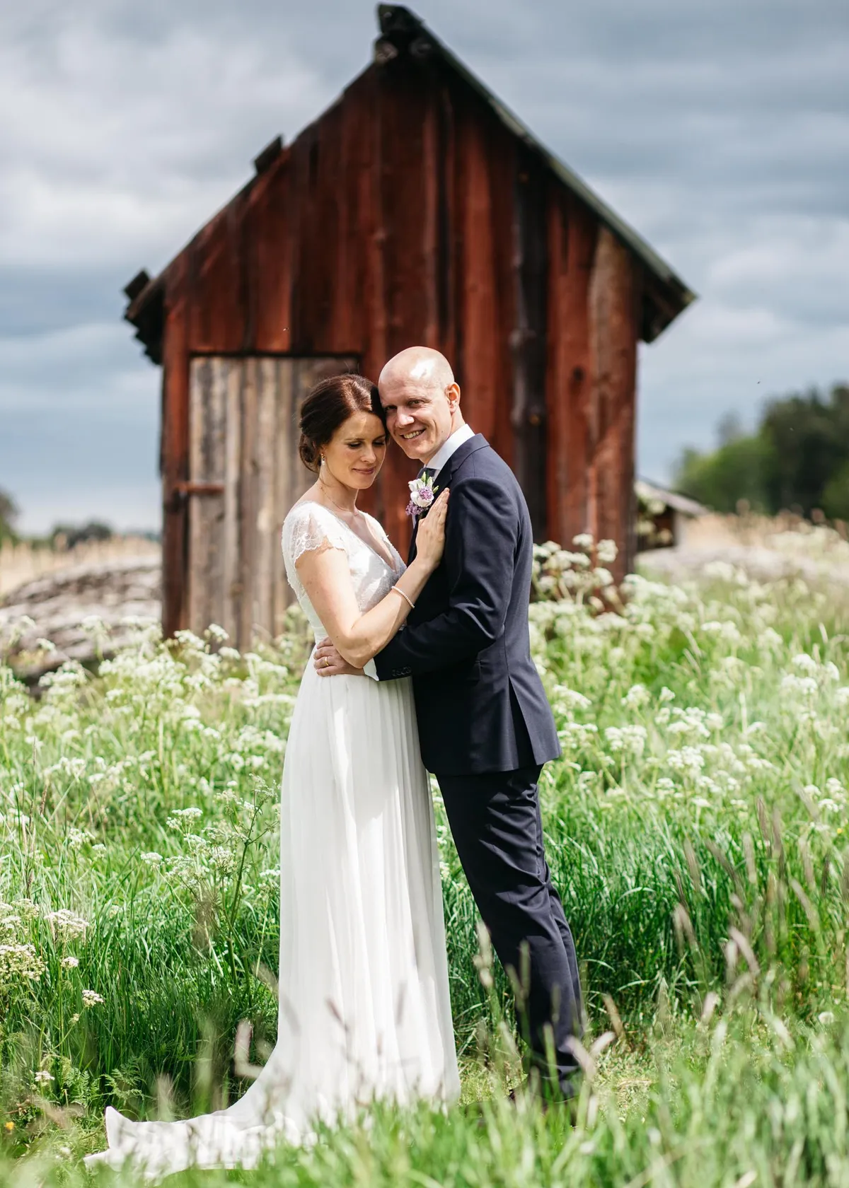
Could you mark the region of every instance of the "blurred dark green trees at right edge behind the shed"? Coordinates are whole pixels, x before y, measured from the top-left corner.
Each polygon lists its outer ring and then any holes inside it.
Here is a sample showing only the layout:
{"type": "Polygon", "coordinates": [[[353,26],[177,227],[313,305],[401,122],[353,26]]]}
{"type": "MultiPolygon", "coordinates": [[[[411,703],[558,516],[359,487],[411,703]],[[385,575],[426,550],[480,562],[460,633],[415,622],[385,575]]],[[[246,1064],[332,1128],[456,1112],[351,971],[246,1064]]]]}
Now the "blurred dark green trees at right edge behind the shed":
{"type": "Polygon", "coordinates": [[[754,434],[725,418],[717,449],[684,451],[675,488],[717,512],[744,500],[767,514],[820,510],[849,520],[849,385],[771,400],[754,434]]]}

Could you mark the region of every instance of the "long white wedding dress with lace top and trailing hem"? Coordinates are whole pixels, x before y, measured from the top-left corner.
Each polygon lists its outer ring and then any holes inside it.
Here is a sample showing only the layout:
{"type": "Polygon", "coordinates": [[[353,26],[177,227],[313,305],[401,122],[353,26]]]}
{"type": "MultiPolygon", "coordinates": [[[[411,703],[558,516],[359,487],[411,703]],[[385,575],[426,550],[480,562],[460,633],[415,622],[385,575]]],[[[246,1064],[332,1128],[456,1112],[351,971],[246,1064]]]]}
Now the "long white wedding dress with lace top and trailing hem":
{"type": "MultiPolygon", "coordinates": [[[[341,549],[360,611],[404,564],[377,520],[389,565],[320,504],[283,523],[285,570],[316,640],[322,627],[295,562],[341,549]]],[[[320,677],[307,664],[287,744],[281,802],[277,1043],[227,1110],[185,1121],[106,1112],[108,1149],[149,1178],[188,1165],[256,1165],[281,1138],[352,1118],[375,1099],[452,1100],[460,1083],[448,998],[442,896],[410,678],[320,677]]]]}

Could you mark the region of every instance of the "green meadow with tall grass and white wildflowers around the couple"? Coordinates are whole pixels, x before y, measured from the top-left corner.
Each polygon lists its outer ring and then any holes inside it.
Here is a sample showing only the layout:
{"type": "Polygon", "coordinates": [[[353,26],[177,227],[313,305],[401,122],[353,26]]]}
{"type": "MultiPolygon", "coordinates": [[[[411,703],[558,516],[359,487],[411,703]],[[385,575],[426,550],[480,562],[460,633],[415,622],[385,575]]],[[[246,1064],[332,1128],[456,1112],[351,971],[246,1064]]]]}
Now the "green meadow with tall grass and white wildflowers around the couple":
{"type": "MultiPolygon", "coordinates": [[[[540,560],[532,640],[564,745],[547,847],[589,1016],[574,1125],[503,1101],[508,986],[478,977],[438,801],[463,1102],[169,1183],[849,1184],[849,600],[717,567],[629,579],[616,612],[583,552],[540,560]]],[[[226,1104],[240,1019],[252,1060],[273,1043],[306,639],[295,618],[277,649],[215,636],[139,627],[36,701],[0,668],[0,1184],[83,1182],[108,1102],[226,1104]]]]}

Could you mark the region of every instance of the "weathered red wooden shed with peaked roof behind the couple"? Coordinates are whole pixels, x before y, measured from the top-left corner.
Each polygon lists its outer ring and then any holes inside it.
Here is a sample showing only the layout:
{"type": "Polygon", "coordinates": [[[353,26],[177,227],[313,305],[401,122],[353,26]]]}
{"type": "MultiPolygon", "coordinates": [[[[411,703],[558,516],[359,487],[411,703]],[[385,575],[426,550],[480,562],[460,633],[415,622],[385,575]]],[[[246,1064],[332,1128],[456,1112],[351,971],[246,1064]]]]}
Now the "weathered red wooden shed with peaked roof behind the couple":
{"type": "MultiPolygon", "coordinates": [[[[301,398],[424,343],[512,467],[537,539],[635,548],[637,341],[693,295],[409,10],[371,63],[155,279],[127,320],[163,368],[163,625],[276,634],[301,398]]],[[[395,447],[364,500],[405,546],[395,447]]]]}

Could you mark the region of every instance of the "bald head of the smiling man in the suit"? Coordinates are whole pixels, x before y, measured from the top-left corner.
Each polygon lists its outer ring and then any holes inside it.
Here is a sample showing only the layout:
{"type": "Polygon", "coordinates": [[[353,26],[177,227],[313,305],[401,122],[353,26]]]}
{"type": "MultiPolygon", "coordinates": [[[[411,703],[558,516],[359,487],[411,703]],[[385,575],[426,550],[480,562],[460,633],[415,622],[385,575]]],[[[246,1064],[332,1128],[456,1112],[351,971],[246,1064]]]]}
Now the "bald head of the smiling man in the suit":
{"type": "Polygon", "coordinates": [[[463,424],[451,364],[433,347],[392,355],[377,384],[386,428],[408,457],[427,462],[463,424]]]}

